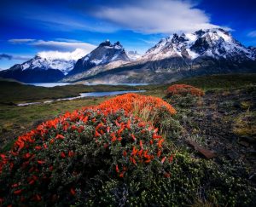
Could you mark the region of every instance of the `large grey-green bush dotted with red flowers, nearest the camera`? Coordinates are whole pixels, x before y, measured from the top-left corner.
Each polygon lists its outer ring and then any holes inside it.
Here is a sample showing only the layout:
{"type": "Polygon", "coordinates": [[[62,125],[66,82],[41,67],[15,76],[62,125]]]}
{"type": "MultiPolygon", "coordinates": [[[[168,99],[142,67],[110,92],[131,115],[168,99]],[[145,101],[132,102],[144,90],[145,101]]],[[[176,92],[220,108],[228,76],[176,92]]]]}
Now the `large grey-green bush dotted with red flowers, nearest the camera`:
{"type": "Polygon", "coordinates": [[[21,135],[1,154],[0,202],[73,204],[90,197],[99,177],[138,181],[139,170],[170,177],[173,154],[158,129],[115,109],[105,102],[67,112],[21,135]]]}

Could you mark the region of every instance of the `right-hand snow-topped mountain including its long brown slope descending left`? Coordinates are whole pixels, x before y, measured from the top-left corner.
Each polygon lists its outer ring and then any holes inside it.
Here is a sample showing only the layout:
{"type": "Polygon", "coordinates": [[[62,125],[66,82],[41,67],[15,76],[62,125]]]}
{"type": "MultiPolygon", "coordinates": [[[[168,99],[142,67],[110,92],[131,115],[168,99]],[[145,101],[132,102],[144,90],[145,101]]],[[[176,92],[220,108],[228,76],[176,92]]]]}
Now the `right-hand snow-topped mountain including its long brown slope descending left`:
{"type": "Polygon", "coordinates": [[[255,72],[253,51],[220,28],[173,34],[161,39],[139,60],[84,80],[92,83],[168,83],[204,74],[255,72]]]}

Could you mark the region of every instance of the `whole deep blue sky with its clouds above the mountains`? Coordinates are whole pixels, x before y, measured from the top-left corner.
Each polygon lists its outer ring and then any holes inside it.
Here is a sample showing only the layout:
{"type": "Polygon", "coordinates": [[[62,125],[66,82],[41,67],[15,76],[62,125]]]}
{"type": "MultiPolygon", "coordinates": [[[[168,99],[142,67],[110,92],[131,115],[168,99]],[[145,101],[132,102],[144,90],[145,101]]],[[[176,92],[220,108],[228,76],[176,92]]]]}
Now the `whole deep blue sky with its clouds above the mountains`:
{"type": "Polygon", "coordinates": [[[41,51],[120,41],[143,54],[161,37],[222,26],[256,45],[255,0],[1,0],[0,69],[41,51]]]}

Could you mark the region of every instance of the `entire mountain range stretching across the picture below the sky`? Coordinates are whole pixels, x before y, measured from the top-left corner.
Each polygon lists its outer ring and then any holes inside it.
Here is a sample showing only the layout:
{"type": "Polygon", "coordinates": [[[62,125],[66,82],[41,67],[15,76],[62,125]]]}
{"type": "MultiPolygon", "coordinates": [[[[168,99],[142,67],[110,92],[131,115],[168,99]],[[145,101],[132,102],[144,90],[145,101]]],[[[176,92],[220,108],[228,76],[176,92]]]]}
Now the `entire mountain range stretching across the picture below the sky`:
{"type": "Polygon", "coordinates": [[[256,48],[245,47],[221,28],[162,38],[144,55],[119,43],[100,43],[90,54],[54,59],[42,53],[0,72],[25,83],[169,83],[197,75],[256,72],[256,48]]]}

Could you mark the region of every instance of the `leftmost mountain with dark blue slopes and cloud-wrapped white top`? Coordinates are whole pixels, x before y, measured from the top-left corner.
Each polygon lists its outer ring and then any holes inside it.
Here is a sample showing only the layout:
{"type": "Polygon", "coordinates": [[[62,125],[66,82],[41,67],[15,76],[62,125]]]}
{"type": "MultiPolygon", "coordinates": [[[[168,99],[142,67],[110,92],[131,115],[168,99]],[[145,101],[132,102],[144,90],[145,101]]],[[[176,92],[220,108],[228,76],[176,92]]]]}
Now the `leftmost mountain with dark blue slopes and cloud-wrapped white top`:
{"type": "Polygon", "coordinates": [[[31,60],[0,72],[0,76],[15,78],[25,83],[55,82],[73,70],[76,61],[84,55],[84,49],[76,49],[73,52],[40,52],[31,60]]]}

